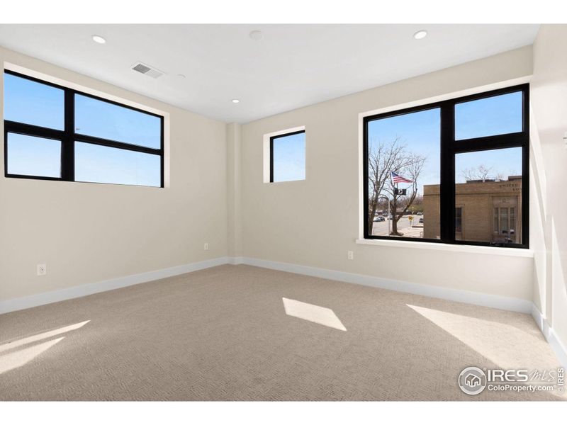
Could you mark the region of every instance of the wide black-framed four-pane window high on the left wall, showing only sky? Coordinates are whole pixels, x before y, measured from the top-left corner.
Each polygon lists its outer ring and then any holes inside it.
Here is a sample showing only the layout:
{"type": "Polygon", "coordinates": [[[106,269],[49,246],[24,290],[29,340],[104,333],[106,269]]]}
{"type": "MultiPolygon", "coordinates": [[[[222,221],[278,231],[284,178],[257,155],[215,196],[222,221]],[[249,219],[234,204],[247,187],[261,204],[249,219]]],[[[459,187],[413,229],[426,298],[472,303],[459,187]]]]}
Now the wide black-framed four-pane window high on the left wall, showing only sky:
{"type": "Polygon", "coordinates": [[[163,187],[164,118],[4,72],[4,174],[163,187]]]}

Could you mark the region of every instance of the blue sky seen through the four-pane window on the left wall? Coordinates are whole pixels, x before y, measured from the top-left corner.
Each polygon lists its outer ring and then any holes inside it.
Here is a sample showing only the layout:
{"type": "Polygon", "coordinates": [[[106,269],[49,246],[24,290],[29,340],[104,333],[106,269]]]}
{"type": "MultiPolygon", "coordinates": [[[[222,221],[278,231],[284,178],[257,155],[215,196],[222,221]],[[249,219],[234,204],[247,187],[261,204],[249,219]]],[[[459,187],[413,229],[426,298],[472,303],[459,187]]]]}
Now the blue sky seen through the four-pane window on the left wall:
{"type": "MultiPolygon", "coordinates": [[[[64,92],[56,87],[4,74],[4,117],[20,123],[64,129],[64,92]]],[[[75,96],[75,131],[118,142],[159,149],[161,121],[139,113],[75,96]]],[[[59,177],[61,144],[56,140],[10,134],[9,173],[59,177]]],[[[159,186],[158,155],[76,142],[75,179],[101,183],[159,186]]]]}

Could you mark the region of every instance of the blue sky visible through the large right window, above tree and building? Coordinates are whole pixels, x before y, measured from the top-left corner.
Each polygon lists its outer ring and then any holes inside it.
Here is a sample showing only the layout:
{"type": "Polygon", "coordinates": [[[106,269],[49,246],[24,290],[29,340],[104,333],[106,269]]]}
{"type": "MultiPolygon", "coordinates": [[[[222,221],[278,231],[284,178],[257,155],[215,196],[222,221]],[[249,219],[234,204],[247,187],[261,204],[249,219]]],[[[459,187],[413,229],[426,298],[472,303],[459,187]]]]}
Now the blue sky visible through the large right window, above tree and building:
{"type": "MultiPolygon", "coordinates": [[[[441,118],[438,108],[405,115],[398,115],[369,123],[369,145],[384,142],[388,144],[400,137],[408,152],[425,156],[426,162],[417,181],[417,191],[423,193],[423,186],[439,184],[441,118]]],[[[455,108],[455,135],[457,140],[500,135],[522,131],[522,94],[520,92],[485,98],[479,101],[460,103],[455,108]]],[[[455,157],[455,178],[464,183],[463,171],[484,165],[492,168],[493,176],[507,176],[522,173],[522,149],[495,149],[484,152],[457,154],[455,157]]],[[[408,176],[409,177],[409,176],[408,176]]],[[[400,185],[406,187],[408,185],[400,185]]]]}

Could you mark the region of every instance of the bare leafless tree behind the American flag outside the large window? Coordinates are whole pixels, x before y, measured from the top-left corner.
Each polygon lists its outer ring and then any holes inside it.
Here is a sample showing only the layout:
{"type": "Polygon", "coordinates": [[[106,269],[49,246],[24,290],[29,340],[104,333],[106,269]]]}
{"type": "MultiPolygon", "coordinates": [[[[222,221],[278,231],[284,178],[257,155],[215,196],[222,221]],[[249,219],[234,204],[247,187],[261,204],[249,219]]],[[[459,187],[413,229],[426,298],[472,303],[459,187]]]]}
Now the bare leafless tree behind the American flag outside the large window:
{"type": "Polygon", "coordinates": [[[405,145],[400,143],[400,137],[396,137],[389,144],[380,142],[371,146],[368,157],[369,234],[372,234],[374,215],[376,215],[381,198],[386,196],[390,200],[392,211],[392,234],[400,235],[398,220],[408,211],[417,196],[417,179],[425,165],[426,158],[408,152],[405,145]],[[391,179],[392,171],[412,180],[411,192],[406,196],[395,194],[395,185],[391,179]],[[403,205],[403,211],[400,214],[397,212],[399,205],[403,205]]]}

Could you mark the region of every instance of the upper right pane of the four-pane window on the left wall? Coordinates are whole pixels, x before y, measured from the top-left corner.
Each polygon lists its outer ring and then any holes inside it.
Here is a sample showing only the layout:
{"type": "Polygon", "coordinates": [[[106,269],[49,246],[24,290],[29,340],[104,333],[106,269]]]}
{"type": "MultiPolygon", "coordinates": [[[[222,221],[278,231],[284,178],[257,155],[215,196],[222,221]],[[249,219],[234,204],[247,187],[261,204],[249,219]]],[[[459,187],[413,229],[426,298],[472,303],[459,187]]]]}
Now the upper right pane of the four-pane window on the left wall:
{"type": "Polygon", "coordinates": [[[75,132],[154,149],[162,145],[161,118],[80,94],[75,95],[75,132]]]}

